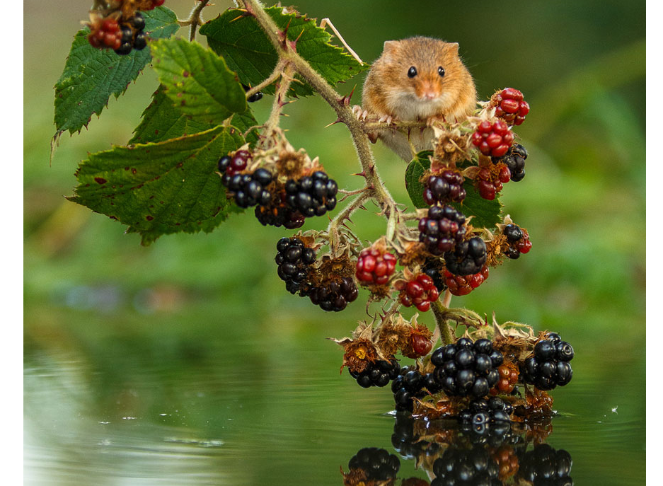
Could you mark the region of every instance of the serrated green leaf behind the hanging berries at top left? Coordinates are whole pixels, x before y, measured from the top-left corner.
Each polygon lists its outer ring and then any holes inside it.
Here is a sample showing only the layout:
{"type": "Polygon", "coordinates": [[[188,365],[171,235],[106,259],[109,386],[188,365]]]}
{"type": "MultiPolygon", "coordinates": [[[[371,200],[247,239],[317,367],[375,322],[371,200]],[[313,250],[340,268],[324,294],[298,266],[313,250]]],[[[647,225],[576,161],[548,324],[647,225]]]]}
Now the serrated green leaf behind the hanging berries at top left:
{"type": "MultiPolygon", "coordinates": [[[[152,39],[170,37],[179,26],[177,16],[165,7],[143,13],[145,31],[152,39]]],[[[150,60],[149,50],[132,50],[120,56],[95,49],[88,42],[88,28],[74,37],[62,76],[55,83],[55,138],[69,130],[80,132],[93,113],[101,114],[111,95],[118,98],[150,60]]]]}

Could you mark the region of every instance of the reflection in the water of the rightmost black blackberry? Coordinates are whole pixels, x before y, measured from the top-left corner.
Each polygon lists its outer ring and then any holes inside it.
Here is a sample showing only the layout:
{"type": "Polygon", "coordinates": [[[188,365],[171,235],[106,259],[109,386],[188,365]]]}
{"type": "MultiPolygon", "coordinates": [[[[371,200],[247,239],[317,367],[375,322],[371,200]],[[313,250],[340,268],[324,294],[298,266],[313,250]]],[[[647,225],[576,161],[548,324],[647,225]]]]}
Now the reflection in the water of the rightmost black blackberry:
{"type": "Polygon", "coordinates": [[[533,486],[573,486],[569,476],[572,465],[570,453],[541,444],[521,456],[518,477],[533,486]]]}

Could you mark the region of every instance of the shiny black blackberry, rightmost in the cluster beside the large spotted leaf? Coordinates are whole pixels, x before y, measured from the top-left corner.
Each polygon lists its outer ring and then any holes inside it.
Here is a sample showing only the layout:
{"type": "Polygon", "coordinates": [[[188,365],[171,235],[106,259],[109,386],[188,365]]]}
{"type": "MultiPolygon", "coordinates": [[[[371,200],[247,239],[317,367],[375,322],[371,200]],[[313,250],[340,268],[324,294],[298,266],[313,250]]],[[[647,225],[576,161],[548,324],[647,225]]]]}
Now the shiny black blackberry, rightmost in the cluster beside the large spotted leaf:
{"type": "Polygon", "coordinates": [[[338,184],[322,170],[285,183],[286,202],[304,217],[322,216],[336,207],[338,184]]]}

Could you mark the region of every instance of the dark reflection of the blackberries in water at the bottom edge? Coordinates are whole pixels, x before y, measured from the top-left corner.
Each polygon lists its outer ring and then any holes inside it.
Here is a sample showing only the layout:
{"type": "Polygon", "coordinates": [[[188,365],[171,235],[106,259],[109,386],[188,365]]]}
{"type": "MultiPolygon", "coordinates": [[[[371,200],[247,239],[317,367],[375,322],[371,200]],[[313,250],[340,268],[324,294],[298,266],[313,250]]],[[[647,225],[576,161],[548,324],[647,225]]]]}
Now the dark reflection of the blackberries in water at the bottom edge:
{"type": "MultiPolygon", "coordinates": [[[[391,443],[415,461],[426,478],[403,478],[403,486],[572,486],[571,456],[544,441],[550,424],[494,422],[488,427],[448,420],[415,420],[397,414],[391,443]]],[[[346,486],[396,484],[400,461],[375,447],[357,452],[343,473],[346,486]]]]}

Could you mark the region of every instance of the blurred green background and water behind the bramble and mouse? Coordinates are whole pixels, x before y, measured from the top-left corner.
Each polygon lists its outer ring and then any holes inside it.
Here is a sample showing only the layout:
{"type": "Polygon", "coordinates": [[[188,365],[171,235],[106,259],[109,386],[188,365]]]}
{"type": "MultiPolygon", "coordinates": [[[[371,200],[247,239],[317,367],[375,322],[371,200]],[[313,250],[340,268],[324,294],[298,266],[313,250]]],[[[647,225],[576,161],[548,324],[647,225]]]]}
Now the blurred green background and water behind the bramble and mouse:
{"type": "MultiPolygon", "coordinates": [[[[184,18],[193,3],[166,6],[184,18]]],[[[367,318],[367,294],[333,314],[291,296],[273,262],[289,233],[250,212],[144,248],[64,199],[88,152],[131,138],[157,86],[146,69],[81,134],[64,134],[49,165],[53,86],[88,4],[24,2],[26,484],[339,484],[338,467],[357,449],[391,449],[391,393],[339,376],[340,348],[325,340],[367,318]]],[[[206,18],[229,5],[206,8],[206,18]]],[[[527,175],[501,201],[534,246],[452,303],[570,341],[575,378],[553,392],[550,443],[572,454],[576,484],[642,484],[645,1],[296,6],[331,18],[364,61],[384,40],[441,37],[460,43],[481,99],[505,86],[524,92],[527,175]]],[[[360,93],[362,81],[339,90],[360,93]]],[[[255,103],[258,120],[270,102],[255,103]]],[[[357,188],[347,130],[325,128],[332,110],[306,98],[287,113],[292,144],[320,156],[340,187],[357,188]]],[[[407,204],[405,164],[379,144],[374,153],[407,204]]],[[[353,219],[367,240],[384,233],[374,212],[353,219]]]]}

